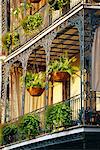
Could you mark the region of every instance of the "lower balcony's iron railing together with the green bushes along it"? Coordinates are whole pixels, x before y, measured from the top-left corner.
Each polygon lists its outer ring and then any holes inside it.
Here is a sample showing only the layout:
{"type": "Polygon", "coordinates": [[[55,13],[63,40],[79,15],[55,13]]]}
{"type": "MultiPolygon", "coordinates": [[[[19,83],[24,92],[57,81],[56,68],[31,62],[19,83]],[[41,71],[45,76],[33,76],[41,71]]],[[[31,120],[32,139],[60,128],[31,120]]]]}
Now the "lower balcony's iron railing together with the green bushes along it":
{"type": "Polygon", "coordinates": [[[80,95],[77,95],[10,120],[0,128],[1,145],[22,142],[23,140],[44,136],[49,133],[60,132],[72,126],[100,126],[100,96],[96,97],[97,108],[95,110],[91,107],[84,108],[82,107],[83,105],[84,102],[81,102],[80,95]],[[34,116],[38,116],[38,119],[34,119],[34,116]]]}

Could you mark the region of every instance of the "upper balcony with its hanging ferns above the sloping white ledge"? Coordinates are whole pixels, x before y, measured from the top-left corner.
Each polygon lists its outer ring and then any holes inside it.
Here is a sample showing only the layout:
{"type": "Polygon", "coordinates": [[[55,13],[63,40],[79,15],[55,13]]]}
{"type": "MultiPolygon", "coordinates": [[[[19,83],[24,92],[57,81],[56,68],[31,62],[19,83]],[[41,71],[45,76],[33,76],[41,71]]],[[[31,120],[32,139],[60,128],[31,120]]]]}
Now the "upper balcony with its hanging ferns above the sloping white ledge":
{"type": "MultiPolygon", "coordinates": [[[[8,32],[3,35],[3,54],[9,55],[65,14],[70,14],[81,4],[99,5],[99,0],[71,0],[61,6],[51,4],[45,0],[38,2],[11,3],[10,13],[7,15],[8,32]]],[[[8,11],[9,12],[9,11],[8,11]]]]}

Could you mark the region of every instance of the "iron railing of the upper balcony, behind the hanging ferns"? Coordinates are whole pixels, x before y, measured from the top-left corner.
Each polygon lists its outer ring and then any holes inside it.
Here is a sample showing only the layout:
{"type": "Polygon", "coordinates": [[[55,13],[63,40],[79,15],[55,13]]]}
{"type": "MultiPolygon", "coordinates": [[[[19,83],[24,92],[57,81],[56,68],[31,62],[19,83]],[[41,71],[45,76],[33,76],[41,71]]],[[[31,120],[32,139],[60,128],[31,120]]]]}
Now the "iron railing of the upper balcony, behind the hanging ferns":
{"type": "MultiPolygon", "coordinates": [[[[97,2],[97,1],[96,1],[97,2]]],[[[12,50],[10,50],[10,53],[20,46],[24,45],[26,42],[31,40],[33,37],[35,37],[37,34],[39,34],[41,31],[46,29],[48,26],[50,26],[54,21],[56,21],[58,18],[63,16],[64,14],[71,11],[74,7],[78,7],[80,4],[90,3],[94,5],[95,0],[71,0],[69,4],[64,6],[62,9],[54,11],[50,10],[50,7],[48,4],[44,5],[42,8],[40,8],[37,12],[40,13],[43,17],[43,23],[42,25],[37,29],[34,30],[31,34],[26,34],[22,28],[22,26],[18,26],[14,31],[17,31],[20,36],[20,42],[17,46],[12,46],[12,50]]],[[[37,13],[35,12],[35,13],[37,13]]],[[[13,31],[13,32],[14,32],[13,31]]]]}

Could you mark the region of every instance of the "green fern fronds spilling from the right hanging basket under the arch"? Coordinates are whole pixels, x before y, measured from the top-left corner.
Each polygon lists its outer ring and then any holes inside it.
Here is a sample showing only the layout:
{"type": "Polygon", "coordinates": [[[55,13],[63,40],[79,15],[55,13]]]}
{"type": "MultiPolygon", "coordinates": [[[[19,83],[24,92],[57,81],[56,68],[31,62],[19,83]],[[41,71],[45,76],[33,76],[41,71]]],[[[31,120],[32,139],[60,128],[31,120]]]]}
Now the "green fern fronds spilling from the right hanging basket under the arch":
{"type": "Polygon", "coordinates": [[[67,54],[63,55],[58,60],[50,62],[48,65],[48,73],[61,71],[73,75],[79,70],[77,66],[73,65],[76,60],[75,57],[69,58],[67,54]]]}

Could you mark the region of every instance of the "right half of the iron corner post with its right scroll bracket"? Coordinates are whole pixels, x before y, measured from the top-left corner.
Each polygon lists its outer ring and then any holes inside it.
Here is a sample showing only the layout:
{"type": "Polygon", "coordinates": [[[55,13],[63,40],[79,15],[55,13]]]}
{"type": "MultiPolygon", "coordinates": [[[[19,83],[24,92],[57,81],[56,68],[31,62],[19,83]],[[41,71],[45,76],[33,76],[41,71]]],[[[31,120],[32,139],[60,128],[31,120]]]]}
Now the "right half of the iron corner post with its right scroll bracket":
{"type": "MultiPolygon", "coordinates": [[[[95,110],[95,98],[92,90],[92,44],[96,28],[99,24],[97,21],[96,10],[86,9],[84,13],[84,52],[85,52],[85,69],[86,69],[86,109],[92,113],[95,110]]],[[[92,117],[92,116],[91,116],[92,117]]],[[[92,123],[92,118],[90,118],[92,123]]]]}

